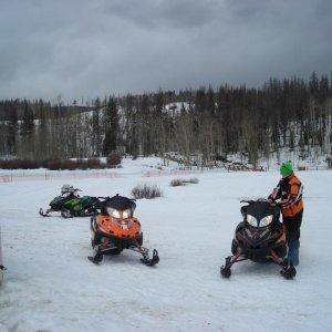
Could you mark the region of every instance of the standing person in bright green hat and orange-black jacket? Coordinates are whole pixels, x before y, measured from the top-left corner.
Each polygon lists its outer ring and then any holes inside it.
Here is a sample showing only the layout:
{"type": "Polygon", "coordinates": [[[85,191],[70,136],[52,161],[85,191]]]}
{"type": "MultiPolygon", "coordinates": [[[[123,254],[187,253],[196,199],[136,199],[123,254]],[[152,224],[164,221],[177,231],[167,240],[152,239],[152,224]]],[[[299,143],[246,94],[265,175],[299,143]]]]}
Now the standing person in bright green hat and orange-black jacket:
{"type": "Polygon", "coordinates": [[[280,199],[282,222],[287,230],[288,259],[297,266],[299,264],[300,228],[303,215],[303,186],[294,175],[291,162],[280,166],[280,174],[282,178],[269,196],[269,200],[280,199]]]}

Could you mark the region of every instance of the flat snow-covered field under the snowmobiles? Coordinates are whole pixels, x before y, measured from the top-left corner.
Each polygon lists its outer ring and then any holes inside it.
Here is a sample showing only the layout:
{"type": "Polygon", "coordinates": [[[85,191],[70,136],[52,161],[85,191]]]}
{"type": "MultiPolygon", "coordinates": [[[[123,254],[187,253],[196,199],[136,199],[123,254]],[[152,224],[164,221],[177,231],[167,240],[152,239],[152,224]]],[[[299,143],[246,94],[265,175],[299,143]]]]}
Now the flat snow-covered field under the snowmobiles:
{"type": "MultiPolygon", "coordinates": [[[[332,331],[331,172],[299,173],[305,211],[298,276],[274,264],[242,262],[230,280],[219,268],[240,221],[240,199],[267,197],[278,173],[210,172],[198,185],[170,187],[175,176],[143,177],[153,159],[125,162],[118,178],[70,180],[92,196],[129,195],[143,183],[164,197],[137,201],[145,246],[160,262],[134,252],[91,255],[89,218],[42,218],[40,207],[66,183],[0,184],[3,261],[0,331],[332,331]]],[[[180,176],[177,176],[180,177],[180,176]]]]}

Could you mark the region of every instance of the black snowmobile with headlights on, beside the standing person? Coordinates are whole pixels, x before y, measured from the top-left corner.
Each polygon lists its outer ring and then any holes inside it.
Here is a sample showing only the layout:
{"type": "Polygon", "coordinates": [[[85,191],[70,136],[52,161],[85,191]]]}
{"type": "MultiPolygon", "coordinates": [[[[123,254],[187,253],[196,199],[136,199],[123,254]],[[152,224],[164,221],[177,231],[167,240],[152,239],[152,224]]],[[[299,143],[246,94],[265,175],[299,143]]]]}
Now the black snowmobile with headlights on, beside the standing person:
{"type": "Polygon", "coordinates": [[[241,207],[243,221],[236,228],[231,243],[232,256],[226,258],[225,266],[220,268],[221,276],[229,278],[234,263],[249,259],[256,262],[272,261],[282,268],[282,277],[295,277],[293,262],[286,258],[286,231],[279,219],[280,208],[277,203],[266,199],[241,203],[248,204],[241,207]]]}

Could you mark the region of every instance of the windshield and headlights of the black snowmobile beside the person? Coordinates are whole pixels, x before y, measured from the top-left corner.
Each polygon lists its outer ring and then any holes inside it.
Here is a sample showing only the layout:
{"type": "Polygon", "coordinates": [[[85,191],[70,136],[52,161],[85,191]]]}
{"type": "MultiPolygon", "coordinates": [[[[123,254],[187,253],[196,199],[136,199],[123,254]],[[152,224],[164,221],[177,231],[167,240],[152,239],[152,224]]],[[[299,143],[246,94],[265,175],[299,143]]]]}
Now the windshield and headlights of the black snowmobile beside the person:
{"type": "Polygon", "coordinates": [[[267,200],[256,200],[246,207],[246,221],[252,227],[267,227],[278,215],[279,208],[267,200]]]}

